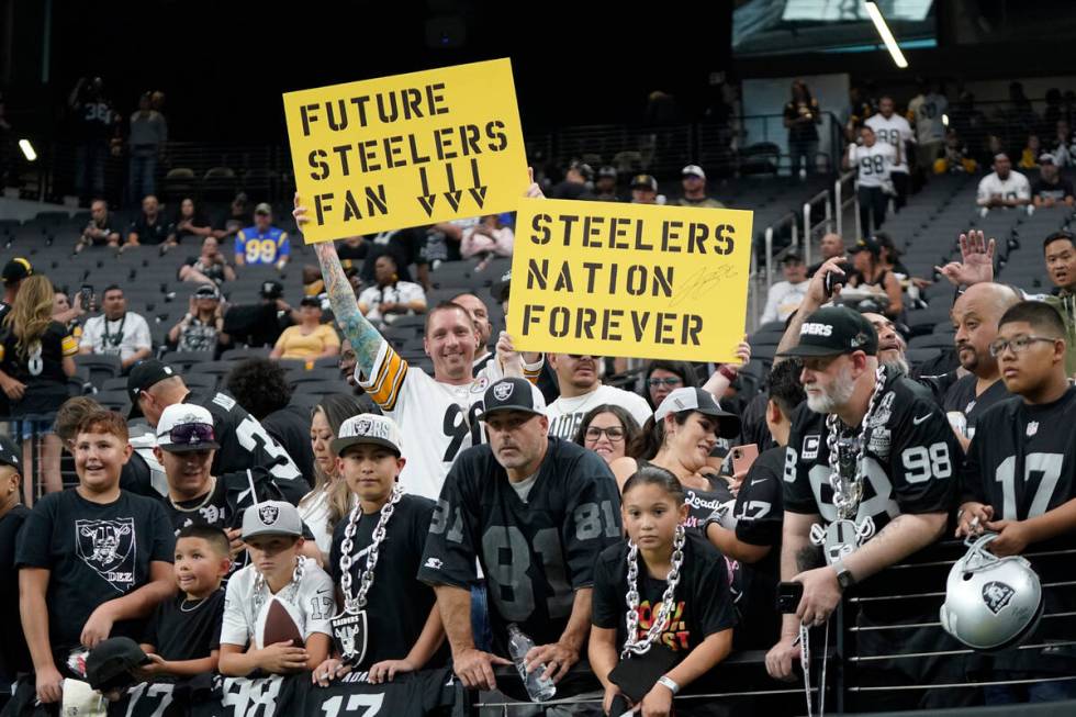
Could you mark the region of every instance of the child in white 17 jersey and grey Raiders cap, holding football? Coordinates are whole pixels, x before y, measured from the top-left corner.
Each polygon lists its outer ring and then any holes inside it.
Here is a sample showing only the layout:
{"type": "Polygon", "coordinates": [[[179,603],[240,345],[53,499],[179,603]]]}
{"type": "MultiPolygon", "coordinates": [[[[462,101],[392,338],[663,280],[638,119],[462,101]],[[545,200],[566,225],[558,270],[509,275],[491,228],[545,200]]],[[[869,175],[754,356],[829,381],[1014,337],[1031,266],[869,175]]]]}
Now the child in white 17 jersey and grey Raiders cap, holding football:
{"type": "Polygon", "coordinates": [[[245,677],[256,670],[289,674],[313,670],[328,657],[330,619],[336,614],[333,581],[300,554],[303,523],[291,503],[266,501],[243,514],[243,541],[250,564],[228,580],[221,628],[220,672],[245,677]],[[274,601],[290,607],[305,647],[265,643],[274,601]]]}

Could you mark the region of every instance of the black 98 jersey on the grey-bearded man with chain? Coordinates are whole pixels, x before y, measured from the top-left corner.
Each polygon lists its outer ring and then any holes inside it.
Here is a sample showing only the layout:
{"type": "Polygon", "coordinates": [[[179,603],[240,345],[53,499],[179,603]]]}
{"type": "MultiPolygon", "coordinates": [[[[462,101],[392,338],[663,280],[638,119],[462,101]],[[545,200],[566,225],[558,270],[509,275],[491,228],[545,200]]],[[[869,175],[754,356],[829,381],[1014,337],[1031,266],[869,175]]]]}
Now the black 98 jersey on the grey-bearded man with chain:
{"type": "MultiPolygon", "coordinates": [[[[887,370],[867,428],[856,523],[872,518],[877,534],[903,513],[948,513],[955,507],[964,453],[927,389],[887,370]]],[[[828,524],[838,516],[827,435],[826,416],[804,403],[785,450],[784,505],[792,513],[818,513],[828,524]]]]}

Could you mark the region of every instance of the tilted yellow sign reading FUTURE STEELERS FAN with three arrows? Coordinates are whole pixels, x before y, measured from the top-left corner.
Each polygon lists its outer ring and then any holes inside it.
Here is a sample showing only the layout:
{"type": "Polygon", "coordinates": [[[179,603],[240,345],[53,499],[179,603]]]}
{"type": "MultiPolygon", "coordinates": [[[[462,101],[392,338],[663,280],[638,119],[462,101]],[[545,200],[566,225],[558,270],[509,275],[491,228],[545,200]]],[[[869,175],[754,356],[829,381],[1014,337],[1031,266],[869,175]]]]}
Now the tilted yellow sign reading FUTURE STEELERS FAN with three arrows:
{"type": "Polygon", "coordinates": [[[512,64],[287,92],[307,243],[498,214],[527,188],[512,64]]]}

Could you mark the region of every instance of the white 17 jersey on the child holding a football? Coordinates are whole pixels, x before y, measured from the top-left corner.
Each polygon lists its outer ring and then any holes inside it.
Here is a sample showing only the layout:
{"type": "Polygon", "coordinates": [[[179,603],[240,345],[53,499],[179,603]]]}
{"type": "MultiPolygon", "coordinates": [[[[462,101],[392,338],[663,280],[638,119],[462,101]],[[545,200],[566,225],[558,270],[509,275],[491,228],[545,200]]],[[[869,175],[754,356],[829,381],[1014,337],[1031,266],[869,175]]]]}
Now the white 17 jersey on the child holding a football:
{"type": "MultiPolygon", "coordinates": [[[[236,571],[228,579],[224,593],[224,621],[221,625],[221,643],[247,647],[251,641],[257,649],[261,645],[260,630],[256,626],[265,621],[265,613],[269,609],[268,594],[255,612],[254,585],[258,573],[254,565],[236,571]]],[[[303,640],[311,635],[322,632],[332,637],[332,619],[336,615],[336,597],[333,579],[324,570],[307,559],[303,568],[303,579],[295,589],[293,583],[284,585],[276,594],[287,601],[293,617],[296,618],[299,631],[303,640]]],[[[268,590],[266,591],[268,593],[268,590]]]]}

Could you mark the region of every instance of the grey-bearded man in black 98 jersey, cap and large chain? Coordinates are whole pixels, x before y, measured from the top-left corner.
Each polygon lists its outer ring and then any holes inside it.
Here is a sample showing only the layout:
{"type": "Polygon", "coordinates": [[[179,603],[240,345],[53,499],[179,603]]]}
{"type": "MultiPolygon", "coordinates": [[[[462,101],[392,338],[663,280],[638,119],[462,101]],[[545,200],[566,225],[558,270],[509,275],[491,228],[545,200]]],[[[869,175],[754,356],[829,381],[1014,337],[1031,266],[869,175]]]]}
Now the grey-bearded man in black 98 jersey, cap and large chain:
{"type": "MultiPolygon", "coordinates": [[[[828,262],[820,273],[836,268],[828,262]]],[[[781,640],[766,657],[778,679],[792,677],[806,629],[823,625],[842,594],[866,581],[859,595],[922,593],[890,573],[867,580],[937,540],[954,507],[963,451],[945,414],[926,389],[879,367],[878,338],[860,313],[819,309],[799,325],[798,345],[780,356],[800,358],[807,406],[793,422],[784,469],[785,522],[781,579],[799,582],[804,595],[785,615],[781,640]],[[821,547],[827,564],[818,568],[821,547]]],[[[934,607],[937,609],[937,607],[934,607]]],[[[922,624],[937,613],[919,601],[864,602],[860,627],[922,624]]],[[[861,631],[860,654],[931,652],[939,629],[861,631]]],[[[927,684],[937,658],[884,660],[885,684],[927,684]]],[[[950,662],[959,662],[950,660],[950,662]]],[[[866,681],[867,671],[858,677],[866,681]]],[[[909,693],[897,691],[900,699],[909,693]]],[[[872,704],[889,695],[872,694],[872,704]]]]}

